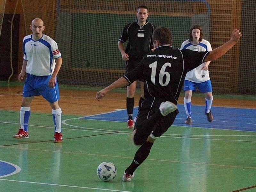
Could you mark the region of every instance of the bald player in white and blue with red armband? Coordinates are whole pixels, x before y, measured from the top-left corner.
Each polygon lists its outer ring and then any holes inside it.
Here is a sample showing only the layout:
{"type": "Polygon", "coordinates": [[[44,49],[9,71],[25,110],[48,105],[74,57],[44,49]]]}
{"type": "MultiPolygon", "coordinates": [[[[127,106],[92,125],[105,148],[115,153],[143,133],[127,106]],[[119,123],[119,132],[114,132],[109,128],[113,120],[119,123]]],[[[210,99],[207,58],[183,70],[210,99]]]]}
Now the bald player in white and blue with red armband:
{"type": "Polygon", "coordinates": [[[20,108],[20,129],[13,135],[14,138],[29,138],[28,120],[30,104],[34,96],[42,95],[52,108],[53,123],[55,126],[54,142],[62,142],[61,108],[58,82],[56,76],[62,64],[62,58],[57,43],[43,34],[44,22],[40,18],[32,20],[30,29],[32,35],[23,39],[23,64],[19,74],[21,82],[27,78],[23,87],[22,106],[20,108]],[[56,61],[56,62],[55,62],[56,61]]]}

